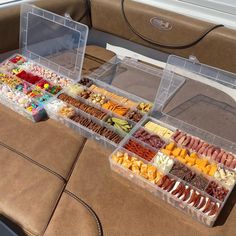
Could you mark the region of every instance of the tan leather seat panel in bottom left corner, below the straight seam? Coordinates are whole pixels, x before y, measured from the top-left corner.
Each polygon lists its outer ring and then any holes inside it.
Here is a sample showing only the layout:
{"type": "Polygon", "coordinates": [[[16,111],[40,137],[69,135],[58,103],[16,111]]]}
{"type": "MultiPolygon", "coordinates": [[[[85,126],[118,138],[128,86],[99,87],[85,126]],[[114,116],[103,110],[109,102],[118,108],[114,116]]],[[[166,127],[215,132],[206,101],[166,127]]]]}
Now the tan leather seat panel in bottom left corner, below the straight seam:
{"type": "Polygon", "coordinates": [[[2,146],[0,166],[0,215],[28,235],[42,235],[64,181],[2,146]]]}

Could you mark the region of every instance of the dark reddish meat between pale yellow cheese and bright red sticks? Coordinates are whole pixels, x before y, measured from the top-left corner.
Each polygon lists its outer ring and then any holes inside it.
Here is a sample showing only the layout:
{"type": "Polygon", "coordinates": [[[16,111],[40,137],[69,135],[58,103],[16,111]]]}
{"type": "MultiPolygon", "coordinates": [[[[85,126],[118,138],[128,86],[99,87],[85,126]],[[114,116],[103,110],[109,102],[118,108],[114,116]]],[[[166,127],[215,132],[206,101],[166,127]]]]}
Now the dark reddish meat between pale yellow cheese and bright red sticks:
{"type": "Polygon", "coordinates": [[[163,141],[158,135],[150,134],[142,128],[134,133],[134,137],[149,144],[150,146],[156,149],[160,149],[165,145],[165,141],[163,141]]]}

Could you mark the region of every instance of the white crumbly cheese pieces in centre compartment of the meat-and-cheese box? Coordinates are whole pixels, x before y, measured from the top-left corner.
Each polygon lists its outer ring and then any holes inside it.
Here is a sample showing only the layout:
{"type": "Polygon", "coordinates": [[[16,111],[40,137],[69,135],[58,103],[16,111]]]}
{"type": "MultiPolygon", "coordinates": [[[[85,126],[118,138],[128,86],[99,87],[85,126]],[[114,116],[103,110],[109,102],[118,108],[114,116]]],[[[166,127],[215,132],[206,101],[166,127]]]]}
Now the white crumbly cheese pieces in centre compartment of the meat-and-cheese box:
{"type": "Polygon", "coordinates": [[[158,152],[154,158],[154,165],[164,173],[168,173],[172,168],[174,161],[162,152],[158,152]]]}

